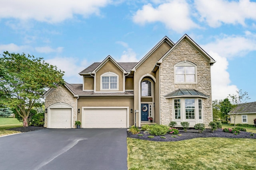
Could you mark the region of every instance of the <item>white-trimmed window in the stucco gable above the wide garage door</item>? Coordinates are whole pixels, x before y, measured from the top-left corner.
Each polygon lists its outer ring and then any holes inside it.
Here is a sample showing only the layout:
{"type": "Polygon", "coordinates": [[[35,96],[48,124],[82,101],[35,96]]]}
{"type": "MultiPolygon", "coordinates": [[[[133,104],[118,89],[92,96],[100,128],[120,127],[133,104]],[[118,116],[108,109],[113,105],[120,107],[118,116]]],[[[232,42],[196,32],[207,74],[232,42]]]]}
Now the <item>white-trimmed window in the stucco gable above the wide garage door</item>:
{"type": "Polygon", "coordinates": [[[112,72],[102,74],[101,90],[118,90],[118,75],[112,72]]]}

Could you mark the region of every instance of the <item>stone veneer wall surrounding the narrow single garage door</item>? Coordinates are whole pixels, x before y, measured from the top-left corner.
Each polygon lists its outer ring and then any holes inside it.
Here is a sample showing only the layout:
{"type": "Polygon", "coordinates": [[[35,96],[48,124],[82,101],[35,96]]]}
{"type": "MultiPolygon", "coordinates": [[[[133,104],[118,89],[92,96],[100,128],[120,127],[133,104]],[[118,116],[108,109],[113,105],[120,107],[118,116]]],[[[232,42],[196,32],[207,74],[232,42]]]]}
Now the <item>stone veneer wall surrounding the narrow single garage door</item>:
{"type": "MultiPolygon", "coordinates": [[[[76,98],[74,95],[64,86],[57,86],[47,97],[45,100],[45,108],[48,108],[52,104],[56,103],[65,103],[70,105],[73,108],[73,122],[72,127],[76,128],[76,98]]],[[[47,128],[48,123],[48,114],[44,114],[44,127],[47,128]]]]}

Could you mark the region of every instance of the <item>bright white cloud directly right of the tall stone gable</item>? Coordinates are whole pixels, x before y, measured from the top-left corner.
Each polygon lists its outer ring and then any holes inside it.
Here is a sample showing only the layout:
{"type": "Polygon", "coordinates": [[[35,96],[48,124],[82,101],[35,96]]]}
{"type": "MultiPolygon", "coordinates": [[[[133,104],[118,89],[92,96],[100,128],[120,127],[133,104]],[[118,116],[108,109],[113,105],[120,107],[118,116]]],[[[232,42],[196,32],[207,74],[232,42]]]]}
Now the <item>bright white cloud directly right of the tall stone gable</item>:
{"type": "Polygon", "coordinates": [[[216,60],[211,67],[212,100],[223,100],[228,97],[228,94],[238,91],[238,88],[236,85],[230,84],[227,59],[212,51],[209,52],[209,55],[216,60]]]}

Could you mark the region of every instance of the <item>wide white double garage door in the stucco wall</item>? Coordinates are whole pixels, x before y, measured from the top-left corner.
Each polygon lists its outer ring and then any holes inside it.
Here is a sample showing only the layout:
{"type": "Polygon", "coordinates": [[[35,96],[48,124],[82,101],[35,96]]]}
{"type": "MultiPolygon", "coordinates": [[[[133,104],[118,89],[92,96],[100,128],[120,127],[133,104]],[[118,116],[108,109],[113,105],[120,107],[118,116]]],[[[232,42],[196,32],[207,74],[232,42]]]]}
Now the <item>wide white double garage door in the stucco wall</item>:
{"type": "Polygon", "coordinates": [[[83,128],[127,128],[127,109],[84,109],[83,128]]]}

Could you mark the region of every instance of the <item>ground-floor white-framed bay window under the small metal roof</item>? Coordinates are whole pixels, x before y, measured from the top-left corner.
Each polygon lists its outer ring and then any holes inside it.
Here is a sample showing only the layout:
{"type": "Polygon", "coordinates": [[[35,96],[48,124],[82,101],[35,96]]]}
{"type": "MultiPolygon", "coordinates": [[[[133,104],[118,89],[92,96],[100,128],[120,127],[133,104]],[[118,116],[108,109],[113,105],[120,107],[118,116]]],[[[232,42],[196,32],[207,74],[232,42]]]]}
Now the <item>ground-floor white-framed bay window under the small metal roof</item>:
{"type": "Polygon", "coordinates": [[[201,98],[174,98],[174,120],[202,120],[202,105],[201,98]]]}

